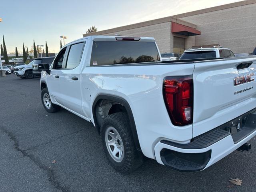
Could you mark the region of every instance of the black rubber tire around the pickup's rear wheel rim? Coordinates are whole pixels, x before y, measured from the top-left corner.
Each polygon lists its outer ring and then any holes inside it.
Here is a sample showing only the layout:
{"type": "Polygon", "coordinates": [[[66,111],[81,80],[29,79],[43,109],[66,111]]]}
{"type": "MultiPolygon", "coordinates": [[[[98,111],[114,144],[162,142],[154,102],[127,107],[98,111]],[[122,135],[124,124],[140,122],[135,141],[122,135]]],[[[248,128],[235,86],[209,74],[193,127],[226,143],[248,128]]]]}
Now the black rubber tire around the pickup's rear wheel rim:
{"type": "Polygon", "coordinates": [[[102,122],[100,134],[104,151],[108,161],[114,169],[121,173],[128,173],[134,171],[143,163],[142,155],[138,153],[134,144],[127,113],[118,112],[108,115],[102,122]],[[108,152],[108,147],[105,141],[105,133],[108,127],[114,127],[122,139],[124,156],[121,162],[116,162],[112,158],[110,152],[108,152]]]}

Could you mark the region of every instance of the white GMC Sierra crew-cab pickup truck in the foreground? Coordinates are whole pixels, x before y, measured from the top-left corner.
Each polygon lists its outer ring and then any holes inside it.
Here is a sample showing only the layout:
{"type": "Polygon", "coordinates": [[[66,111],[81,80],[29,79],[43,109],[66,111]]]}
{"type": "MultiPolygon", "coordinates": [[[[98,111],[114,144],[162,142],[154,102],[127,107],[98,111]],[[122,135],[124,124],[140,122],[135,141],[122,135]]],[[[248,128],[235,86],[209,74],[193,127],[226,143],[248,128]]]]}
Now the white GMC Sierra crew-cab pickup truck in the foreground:
{"type": "Polygon", "coordinates": [[[42,72],[41,98],[48,112],[62,107],[92,122],[120,172],[144,156],[199,171],[250,149],[255,73],[253,56],[162,62],[154,38],[88,36],[42,72]]]}

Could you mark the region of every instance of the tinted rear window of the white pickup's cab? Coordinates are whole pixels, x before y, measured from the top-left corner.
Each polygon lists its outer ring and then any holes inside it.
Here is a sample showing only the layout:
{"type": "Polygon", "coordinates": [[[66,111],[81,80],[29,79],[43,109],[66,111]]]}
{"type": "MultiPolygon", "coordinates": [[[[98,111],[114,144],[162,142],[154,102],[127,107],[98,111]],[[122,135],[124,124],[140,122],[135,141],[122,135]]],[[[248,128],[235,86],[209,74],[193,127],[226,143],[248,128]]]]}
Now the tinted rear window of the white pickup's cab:
{"type": "Polygon", "coordinates": [[[154,42],[93,42],[90,66],[160,61],[154,42]]]}

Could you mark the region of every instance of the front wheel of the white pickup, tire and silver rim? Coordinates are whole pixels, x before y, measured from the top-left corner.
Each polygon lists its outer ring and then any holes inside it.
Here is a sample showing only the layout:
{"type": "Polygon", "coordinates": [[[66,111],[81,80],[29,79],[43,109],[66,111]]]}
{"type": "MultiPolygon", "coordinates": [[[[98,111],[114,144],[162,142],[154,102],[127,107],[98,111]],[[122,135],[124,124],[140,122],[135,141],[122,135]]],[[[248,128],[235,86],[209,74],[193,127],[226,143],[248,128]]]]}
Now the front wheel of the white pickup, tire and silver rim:
{"type": "Polygon", "coordinates": [[[50,94],[47,88],[44,88],[41,92],[41,100],[45,110],[49,113],[55,113],[60,110],[60,106],[52,103],[50,94]]]}

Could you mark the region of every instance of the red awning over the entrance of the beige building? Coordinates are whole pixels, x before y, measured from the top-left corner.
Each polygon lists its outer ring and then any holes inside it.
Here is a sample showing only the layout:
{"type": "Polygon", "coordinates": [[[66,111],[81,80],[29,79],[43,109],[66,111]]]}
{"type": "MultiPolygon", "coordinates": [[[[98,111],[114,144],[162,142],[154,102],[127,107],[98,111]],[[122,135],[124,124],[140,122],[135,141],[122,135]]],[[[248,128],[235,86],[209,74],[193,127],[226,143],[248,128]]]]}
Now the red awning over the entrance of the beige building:
{"type": "Polygon", "coordinates": [[[181,25],[178,23],[174,23],[174,22],[172,22],[172,33],[177,33],[177,34],[186,35],[186,36],[193,36],[193,35],[201,34],[200,31],[198,31],[194,28],[191,28],[191,27],[188,27],[185,25],[181,25]]]}

